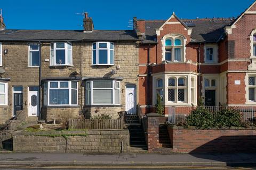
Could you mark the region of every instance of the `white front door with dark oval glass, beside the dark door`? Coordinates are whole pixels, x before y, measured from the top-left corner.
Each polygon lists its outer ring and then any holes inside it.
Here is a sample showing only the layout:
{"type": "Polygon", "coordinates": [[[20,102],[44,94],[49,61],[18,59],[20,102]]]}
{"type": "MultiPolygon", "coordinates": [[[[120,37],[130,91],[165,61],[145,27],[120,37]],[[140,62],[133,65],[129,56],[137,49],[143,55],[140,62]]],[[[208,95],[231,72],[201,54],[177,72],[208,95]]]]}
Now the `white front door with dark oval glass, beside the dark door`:
{"type": "Polygon", "coordinates": [[[28,92],[28,116],[38,116],[39,113],[38,91],[28,92]]]}

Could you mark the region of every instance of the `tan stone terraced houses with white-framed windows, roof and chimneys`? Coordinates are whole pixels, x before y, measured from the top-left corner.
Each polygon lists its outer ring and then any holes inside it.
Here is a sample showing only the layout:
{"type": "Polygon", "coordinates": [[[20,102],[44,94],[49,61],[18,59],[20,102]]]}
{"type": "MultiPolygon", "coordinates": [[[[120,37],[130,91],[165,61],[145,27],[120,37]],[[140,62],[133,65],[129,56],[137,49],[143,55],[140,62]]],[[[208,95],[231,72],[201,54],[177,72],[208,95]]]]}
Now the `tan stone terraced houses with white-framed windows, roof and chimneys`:
{"type": "Polygon", "coordinates": [[[20,111],[30,120],[46,121],[101,113],[118,118],[126,108],[136,112],[135,31],[94,30],[87,13],[83,22],[84,30],[8,30],[3,25],[1,124],[20,111]]]}

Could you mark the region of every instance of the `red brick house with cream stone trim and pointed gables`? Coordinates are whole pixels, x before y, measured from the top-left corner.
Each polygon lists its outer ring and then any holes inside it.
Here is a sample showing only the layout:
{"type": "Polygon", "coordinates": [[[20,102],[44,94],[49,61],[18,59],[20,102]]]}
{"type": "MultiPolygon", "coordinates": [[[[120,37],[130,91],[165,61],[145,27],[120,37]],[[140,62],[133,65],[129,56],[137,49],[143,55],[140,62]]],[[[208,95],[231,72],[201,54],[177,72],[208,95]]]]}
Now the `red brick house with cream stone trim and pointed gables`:
{"type": "Polygon", "coordinates": [[[137,20],[139,104],[256,105],[256,2],[235,18],[137,20]]]}

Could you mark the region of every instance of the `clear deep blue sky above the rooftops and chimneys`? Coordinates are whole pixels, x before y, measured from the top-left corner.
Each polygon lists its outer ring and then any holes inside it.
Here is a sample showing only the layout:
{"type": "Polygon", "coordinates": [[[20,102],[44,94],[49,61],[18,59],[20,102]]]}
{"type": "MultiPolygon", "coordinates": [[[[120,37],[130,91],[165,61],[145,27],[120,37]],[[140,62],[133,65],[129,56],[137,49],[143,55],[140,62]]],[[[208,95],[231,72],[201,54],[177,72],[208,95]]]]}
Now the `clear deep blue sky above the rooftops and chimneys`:
{"type": "Polygon", "coordinates": [[[242,13],[253,2],[254,0],[8,0],[1,1],[0,8],[3,9],[7,29],[82,29],[79,25],[83,24],[83,16],[75,13],[89,12],[94,29],[117,30],[131,29],[127,26],[133,16],[146,20],[167,19],[174,11],[183,19],[232,17],[242,13]]]}

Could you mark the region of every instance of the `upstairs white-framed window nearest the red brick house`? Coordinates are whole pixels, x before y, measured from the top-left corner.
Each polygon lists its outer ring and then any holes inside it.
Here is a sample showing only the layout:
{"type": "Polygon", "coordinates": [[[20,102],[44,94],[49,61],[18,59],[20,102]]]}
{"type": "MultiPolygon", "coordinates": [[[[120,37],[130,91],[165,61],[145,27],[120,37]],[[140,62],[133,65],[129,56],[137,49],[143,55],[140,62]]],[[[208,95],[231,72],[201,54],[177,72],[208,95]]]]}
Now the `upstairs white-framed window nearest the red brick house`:
{"type": "Polygon", "coordinates": [[[93,43],[92,65],[114,65],[114,43],[93,43]]]}

